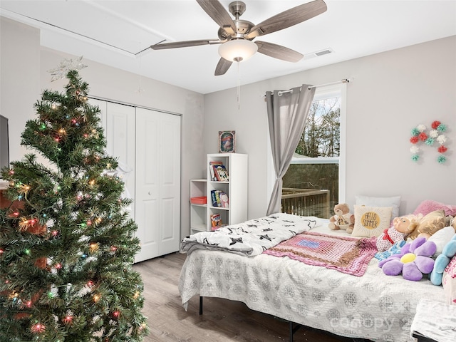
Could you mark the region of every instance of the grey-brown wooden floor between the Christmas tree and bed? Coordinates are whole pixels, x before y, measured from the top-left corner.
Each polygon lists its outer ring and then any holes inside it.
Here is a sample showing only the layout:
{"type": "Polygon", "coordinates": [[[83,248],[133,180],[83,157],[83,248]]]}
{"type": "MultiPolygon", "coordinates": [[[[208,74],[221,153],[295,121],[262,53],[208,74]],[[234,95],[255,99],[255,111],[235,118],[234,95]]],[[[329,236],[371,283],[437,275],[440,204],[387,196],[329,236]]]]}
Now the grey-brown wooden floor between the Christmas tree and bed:
{"type": "MultiPolygon", "coordinates": [[[[142,274],[150,334],[145,342],[284,342],[289,341],[289,323],[252,311],[245,304],[226,299],[204,298],[199,316],[199,297],[190,300],[188,311],[181,306],[177,283],[186,254],[173,253],[135,264],[142,274]]],[[[353,341],[323,331],[302,327],[294,342],[353,341]]]]}

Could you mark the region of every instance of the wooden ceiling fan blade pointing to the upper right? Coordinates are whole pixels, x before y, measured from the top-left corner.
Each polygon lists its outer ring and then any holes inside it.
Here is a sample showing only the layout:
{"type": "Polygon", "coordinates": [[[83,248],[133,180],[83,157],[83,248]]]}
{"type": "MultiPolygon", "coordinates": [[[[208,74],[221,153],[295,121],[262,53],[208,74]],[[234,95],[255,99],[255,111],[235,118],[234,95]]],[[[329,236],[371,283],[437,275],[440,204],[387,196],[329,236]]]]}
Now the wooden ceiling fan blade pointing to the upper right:
{"type": "Polygon", "coordinates": [[[325,12],[326,9],[327,7],[323,0],[314,0],[307,4],[293,7],[292,9],[271,16],[271,18],[255,25],[244,38],[252,39],[257,36],[263,36],[264,34],[283,30],[284,28],[314,18],[314,16],[318,16],[318,14],[325,12]]]}

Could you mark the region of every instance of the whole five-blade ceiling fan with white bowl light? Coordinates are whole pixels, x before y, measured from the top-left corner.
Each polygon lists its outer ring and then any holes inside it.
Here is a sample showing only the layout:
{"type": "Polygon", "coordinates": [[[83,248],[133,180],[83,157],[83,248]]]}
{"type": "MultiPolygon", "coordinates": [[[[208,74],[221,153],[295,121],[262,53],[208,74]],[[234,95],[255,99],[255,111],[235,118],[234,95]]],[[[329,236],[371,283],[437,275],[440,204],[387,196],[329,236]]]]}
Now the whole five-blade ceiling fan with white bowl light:
{"type": "Polygon", "coordinates": [[[215,76],[224,75],[233,61],[245,61],[257,51],[282,61],[299,61],[303,55],[291,50],[291,48],[266,41],[252,42],[252,40],[257,36],[264,36],[265,34],[299,24],[326,11],[326,4],[323,0],[314,0],[283,11],[262,21],[260,24],[254,25],[250,21],[239,19],[239,16],[242,16],[246,9],[246,5],[242,1],[234,1],[229,4],[229,11],[235,17],[234,20],[218,0],[197,0],[197,3],[220,26],[218,31],[219,39],[157,43],[150,46],[150,48],[162,50],[165,48],[222,44],[219,47],[219,54],[222,57],[215,68],[215,76]],[[237,49],[234,49],[234,45],[237,45],[237,49]],[[237,52],[232,53],[233,51],[237,52]]]}

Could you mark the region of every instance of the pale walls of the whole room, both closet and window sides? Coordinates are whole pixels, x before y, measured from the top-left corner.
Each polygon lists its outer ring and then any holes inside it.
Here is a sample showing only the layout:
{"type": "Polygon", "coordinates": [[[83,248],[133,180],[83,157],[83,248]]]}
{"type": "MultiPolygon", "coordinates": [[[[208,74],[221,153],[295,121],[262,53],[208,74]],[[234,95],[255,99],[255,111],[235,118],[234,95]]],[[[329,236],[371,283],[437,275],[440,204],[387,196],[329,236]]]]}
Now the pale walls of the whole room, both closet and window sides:
{"type": "MultiPolygon", "coordinates": [[[[34,117],[33,103],[50,83],[47,71],[63,53],[41,48],[39,31],[1,17],[0,110],[10,118],[11,160],[20,159],[20,134],[34,117]]],[[[324,57],[321,57],[324,58],[324,57]]],[[[400,214],[423,199],[456,204],[456,36],[357,58],[289,76],[201,95],[93,61],[81,76],[90,95],[182,114],[182,235],[189,232],[189,180],[204,175],[206,153],[217,152],[219,130],[236,130],[237,152],[249,155],[249,218],[266,214],[269,141],[266,90],[352,78],[347,86],[347,190],[355,195],[402,195],[400,214]],[[204,115],[203,115],[204,113],[204,115]],[[410,130],[440,120],[447,125],[448,160],[435,161],[436,147],[422,162],[410,160],[410,130]],[[204,127],[203,127],[204,126],[204,127]]],[[[254,63],[254,58],[246,63],[254,63]]],[[[247,66],[247,64],[246,64],[247,66]]],[[[158,67],[158,66],[157,66],[158,67]]]]}

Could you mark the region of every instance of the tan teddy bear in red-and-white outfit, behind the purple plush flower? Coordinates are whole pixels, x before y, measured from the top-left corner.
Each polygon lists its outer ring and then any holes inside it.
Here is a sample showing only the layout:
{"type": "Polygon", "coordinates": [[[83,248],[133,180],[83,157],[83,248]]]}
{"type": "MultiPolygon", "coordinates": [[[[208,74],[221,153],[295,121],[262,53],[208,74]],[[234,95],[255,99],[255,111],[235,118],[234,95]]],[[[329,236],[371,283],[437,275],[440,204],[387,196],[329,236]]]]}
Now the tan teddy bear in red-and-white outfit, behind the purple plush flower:
{"type": "Polygon", "coordinates": [[[420,215],[405,215],[402,217],[395,217],[393,219],[393,225],[383,231],[382,234],[377,238],[377,249],[378,252],[385,252],[390,249],[395,242],[403,241],[405,235],[413,232],[418,226],[418,222],[421,219],[420,215]]]}

